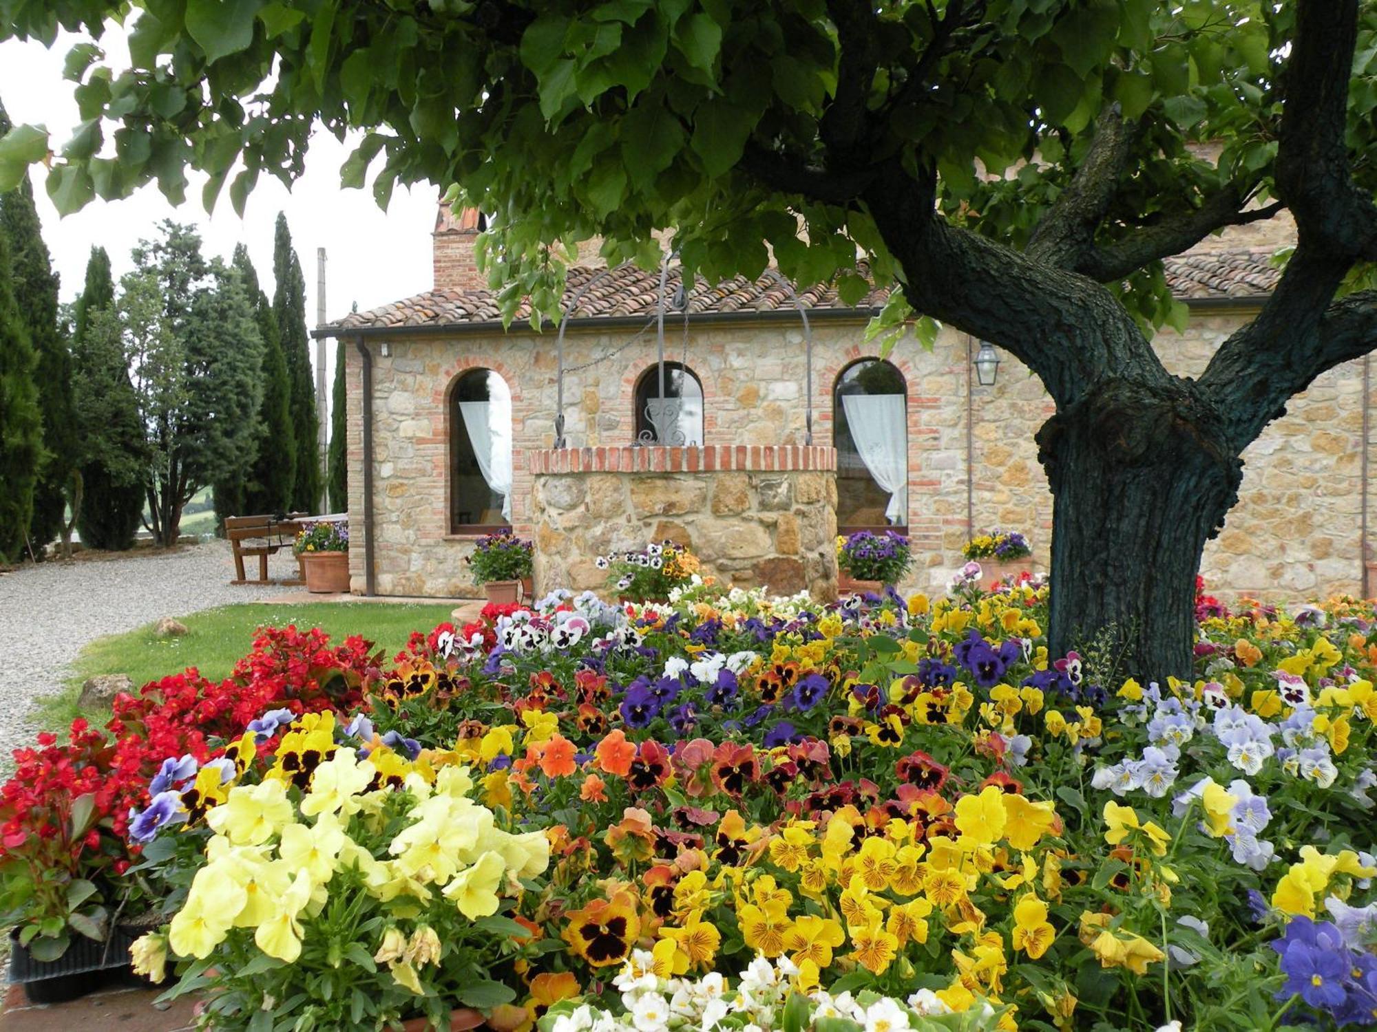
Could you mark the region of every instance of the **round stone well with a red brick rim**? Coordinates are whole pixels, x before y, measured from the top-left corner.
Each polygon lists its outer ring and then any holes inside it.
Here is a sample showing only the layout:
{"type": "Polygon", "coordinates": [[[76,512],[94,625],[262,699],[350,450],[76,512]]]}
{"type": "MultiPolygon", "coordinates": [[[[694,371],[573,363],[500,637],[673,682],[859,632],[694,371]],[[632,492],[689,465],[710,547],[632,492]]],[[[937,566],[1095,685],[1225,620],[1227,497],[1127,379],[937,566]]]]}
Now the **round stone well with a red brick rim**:
{"type": "Polygon", "coordinates": [[[708,572],[837,594],[837,453],[752,444],[532,451],[536,592],[605,589],[609,552],[677,541],[708,572]]]}

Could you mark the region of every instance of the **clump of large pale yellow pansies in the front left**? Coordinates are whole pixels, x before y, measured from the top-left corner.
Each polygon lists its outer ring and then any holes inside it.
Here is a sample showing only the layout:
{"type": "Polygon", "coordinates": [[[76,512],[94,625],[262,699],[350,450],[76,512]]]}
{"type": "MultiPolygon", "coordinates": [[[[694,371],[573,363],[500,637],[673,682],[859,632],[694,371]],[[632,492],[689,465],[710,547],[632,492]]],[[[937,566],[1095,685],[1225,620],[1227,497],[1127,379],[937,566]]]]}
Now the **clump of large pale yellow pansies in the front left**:
{"type": "Polygon", "coordinates": [[[174,802],[145,821],[145,868],[171,888],[172,916],[135,943],[135,970],[175,970],[164,999],[201,993],[224,1032],[467,1029],[514,1003],[537,956],[514,912],[549,863],[545,834],[512,831],[467,766],[417,762],[417,743],[365,751],[332,714],[264,738],[204,816],[174,802]],[[302,761],[307,788],[274,776],[302,761]]]}

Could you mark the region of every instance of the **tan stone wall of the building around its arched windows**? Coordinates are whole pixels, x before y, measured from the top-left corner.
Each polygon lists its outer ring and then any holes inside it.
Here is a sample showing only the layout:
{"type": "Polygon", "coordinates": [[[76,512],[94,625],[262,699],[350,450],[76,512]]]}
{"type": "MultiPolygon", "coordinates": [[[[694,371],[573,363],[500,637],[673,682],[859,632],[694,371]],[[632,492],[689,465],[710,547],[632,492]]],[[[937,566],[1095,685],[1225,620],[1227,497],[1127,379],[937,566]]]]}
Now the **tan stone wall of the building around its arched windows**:
{"type": "MultiPolygon", "coordinates": [[[[1228,333],[1253,314],[1249,308],[1201,307],[1192,311],[1184,333],[1164,330],[1154,343],[1168,369],[1194,376],[1228,333]]],[[[686,355],[702,383],[709,446],[804,444],[807,356],[799,323],[744,319],[735,325],[698,325],[690,327],[686,340],[682,326],[666,326],[666,332],[672,344],[669,356],[686,355]]],[[[850,362],[873,355],[863,344],[863,334],[861,319],[823,314],[814,318],[812,443],[817,446],[832,444],[832,388],[837,374],[850,362]]],[[[512,522],[518,533],[534,534],[536,499],[523,457],[554,443],[552,337],[518,326],[507,334],[492,329],[414,334],[390,340],[387,355],[381,354],[377,338],[369,338],[375,362],[375,541],[380,593],[478,594],[464,566],[474,538],[450,534],[448,515],[448,398],[454,380],[467,369],[494,369],[511,387],[518,453],[512,522]]],[[[607,330],[589,323],[571,327],[566,366],[576,372],[565,378],[566,436],[571,447],[620,453],[633,439],[632,389],[638,376],[655,361],[653,332],[633,337],[633,329],[607,330]]],[[[913,588],[940,589],[961,566],[960,546],[972,527],[1023,530],[1034,546],[1034,567],[1045,570],[1048,564],[1052,504],[1033,435],[1051,414],[1051,400],[1037,378],[1008,354],[1001,354],[1004,362],[994,387],[971,383],[968,350],[974,344],[960,333],[943,330],[931,351],[905,341],[892,356],[909,389],[909,528],[917,553],[917,568],[909,582],[913,588]]],[[[358,528],[361,381],[353,341],[346,354],[350,513],[358,528]]],[[[1360,590],[1362,366],[1360,361],[1349,362],[1316,378],[1245,453],[1241,501],[1205,553],[1203,572],[1212,590],[1279,601],[1360,590]]],[[[629,487],[624,490],[629,493],[629,487]]],[[[759,493],[748,477],[748,494],[752,490],[759,493]]],[[[635,515],[629,494],[624,502],[632,513],[628,519],[639,527],[643,517],[635,515]]],[[[712,513],[711,498],[701,504],[708,508],[698,515],[700,535],[711,530],[709,515],[724,519],[712,513]]],[[[600,504],[599,512],[610,505],[600,504]]],[[[821,537],[818,528],[800,527],[800,534],[821,537]]],[[[591,561],[592,553],[570,556],[569,561],[576,559],[591,561]]],[[[354,590],[364,590],[361,546],[351,553],[351,571],[354,590]]]]}

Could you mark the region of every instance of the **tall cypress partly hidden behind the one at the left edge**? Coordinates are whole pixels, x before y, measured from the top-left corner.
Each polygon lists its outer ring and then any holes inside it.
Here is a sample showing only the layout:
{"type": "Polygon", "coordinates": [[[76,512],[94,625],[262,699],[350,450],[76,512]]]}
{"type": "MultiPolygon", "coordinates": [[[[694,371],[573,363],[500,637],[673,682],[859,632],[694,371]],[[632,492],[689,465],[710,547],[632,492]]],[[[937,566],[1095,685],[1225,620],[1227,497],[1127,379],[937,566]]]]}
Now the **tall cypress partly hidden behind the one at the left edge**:
{"type": "MultiPolygon", "coordinates": [[[[10,128],[10,118],[0,105],[0,136],[10,128]]],[[[77,433],[72,410],[72,356],[58,325],[58,277],[43,242],[43,226],[28,176],[14,190],[0,194],[0,233],[10,245],[11,289],[19,318],[29,329],[37,362],[33,380],[39,388],[44,454],[33,488],[28,533],[34,553],[40,553],[62,530],[65,490],[76,465],[77,433]]]]}

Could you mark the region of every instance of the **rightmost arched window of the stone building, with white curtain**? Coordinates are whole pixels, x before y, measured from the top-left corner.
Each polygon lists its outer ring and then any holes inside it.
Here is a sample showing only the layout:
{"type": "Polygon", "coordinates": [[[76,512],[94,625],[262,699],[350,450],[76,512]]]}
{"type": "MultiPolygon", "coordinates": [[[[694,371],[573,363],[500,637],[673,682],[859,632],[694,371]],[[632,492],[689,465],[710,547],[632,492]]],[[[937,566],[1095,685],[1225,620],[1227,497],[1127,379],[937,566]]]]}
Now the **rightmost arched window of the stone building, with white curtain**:
{"type": "Polygon", "coordinates": [[[832,391],[837,449],[837,528],[909,523],[907,388],[888,362],[863,358],[832,391]]]}

